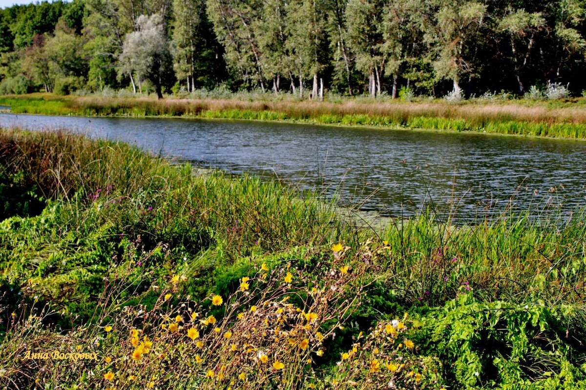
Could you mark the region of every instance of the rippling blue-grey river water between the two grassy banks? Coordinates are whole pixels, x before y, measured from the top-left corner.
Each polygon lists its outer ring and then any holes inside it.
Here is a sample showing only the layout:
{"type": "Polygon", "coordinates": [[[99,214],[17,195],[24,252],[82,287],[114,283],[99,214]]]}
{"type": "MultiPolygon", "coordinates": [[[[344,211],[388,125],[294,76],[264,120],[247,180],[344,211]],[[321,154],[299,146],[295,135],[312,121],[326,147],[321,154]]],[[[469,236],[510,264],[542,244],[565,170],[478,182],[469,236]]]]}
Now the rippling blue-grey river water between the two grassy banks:
{"type": "Polygon", "coordinates": [[[230,173],[278,177],[383,215],[460,222],[586,203],[586,142],[483,134],[166,118],[0,114],[0,126],[71,129],[230,173]]]}

